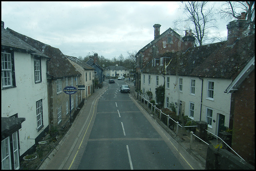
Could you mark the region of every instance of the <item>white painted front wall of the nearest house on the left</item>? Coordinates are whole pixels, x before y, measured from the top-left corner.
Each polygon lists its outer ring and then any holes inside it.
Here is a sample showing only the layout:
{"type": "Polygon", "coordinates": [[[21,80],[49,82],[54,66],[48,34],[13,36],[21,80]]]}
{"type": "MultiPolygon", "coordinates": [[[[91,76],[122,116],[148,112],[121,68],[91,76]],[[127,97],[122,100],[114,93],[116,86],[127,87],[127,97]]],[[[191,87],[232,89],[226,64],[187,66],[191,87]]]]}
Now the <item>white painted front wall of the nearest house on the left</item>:
{"type": "Polygon", "coordinates": [[[26,118],[19,130],[20,155],[34,145],[42,130],[37,130],[36,101],[42,99],[43,124],[48,126],[48,98],[46,81],[46,59],[41,58],[42,82],[34,81],[34,58],[27,53],[14,52],[16,87],[2,90],[2,117],[18,113],[26,118]],[[31,138],[31,139],[28,139],[31,138]]]}

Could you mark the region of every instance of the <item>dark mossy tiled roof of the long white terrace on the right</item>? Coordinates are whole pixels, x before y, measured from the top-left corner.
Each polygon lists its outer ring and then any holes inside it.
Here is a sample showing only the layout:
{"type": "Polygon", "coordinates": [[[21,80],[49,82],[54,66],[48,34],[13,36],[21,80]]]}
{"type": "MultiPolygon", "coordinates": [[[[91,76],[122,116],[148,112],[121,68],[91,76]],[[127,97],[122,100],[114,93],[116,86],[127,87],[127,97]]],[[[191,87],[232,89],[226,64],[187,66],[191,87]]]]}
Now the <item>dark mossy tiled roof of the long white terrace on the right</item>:
{"type": "MultiPolygon", "coordinates": [[[[252,59],[255,51],[255,35],[240,38],[234,45],[228,41],[192,47],[185,53],[169,52],[160,57],[169,57],[170,64],[166,67],[168,75],[184,75],[195,77],[232,78],[239,74],[252,59]],[[177,69],[177,71],[176,71],[177,69]]],[[[142,70],[143,73],[164,73],[162,66],[152,67],[151,62],[142,70]]]]}

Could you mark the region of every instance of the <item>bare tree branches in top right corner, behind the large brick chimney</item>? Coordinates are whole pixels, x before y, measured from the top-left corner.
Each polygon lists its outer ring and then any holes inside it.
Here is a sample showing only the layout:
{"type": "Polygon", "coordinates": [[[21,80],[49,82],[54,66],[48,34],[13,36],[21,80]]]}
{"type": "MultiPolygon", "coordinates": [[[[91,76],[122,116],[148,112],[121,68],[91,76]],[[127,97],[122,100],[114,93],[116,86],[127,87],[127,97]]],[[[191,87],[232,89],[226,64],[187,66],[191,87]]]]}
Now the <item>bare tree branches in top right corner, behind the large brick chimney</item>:
{"type": "Polygon", "coordinates": [[[221,8],[218,9],[223,18],[238,19],[242,12],[245,12],[245,17],[248,22],[248,34],[254,33],[255,30],[255,2],[254,1],[227,1],[224,2],[221,8]]]}

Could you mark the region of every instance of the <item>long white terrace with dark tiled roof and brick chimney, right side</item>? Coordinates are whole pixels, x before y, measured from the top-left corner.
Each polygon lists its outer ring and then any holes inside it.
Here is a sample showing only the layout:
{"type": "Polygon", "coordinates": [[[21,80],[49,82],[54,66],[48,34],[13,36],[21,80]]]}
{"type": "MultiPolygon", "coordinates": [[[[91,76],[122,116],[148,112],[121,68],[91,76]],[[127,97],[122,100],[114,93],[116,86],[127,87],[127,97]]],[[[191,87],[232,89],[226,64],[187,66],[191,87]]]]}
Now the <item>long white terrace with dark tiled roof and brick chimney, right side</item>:
{"type": "Polygon", "coordinates": [[[155,59],[160,65],[151,60],[142,69],[142,89],[154,92],[157,78],[163,77],[165,108],[174,105],[177,114],[205,121],[208,131],[216,135],[232,129],[234,104],[226,88],[254,57],[255,37],[244,36],[245,22],[241,19],[228,24],[227,41],[164,53],[155,59]]]}

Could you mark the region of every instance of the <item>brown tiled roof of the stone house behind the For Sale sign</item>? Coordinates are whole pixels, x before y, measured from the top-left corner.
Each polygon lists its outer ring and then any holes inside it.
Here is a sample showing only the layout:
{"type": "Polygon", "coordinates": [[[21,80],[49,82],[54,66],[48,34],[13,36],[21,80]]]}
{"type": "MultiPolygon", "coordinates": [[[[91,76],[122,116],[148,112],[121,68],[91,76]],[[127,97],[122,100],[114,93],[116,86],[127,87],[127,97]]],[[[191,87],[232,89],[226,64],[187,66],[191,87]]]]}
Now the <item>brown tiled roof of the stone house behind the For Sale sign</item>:
{"type": "Polygon", "coordinates": [[[68,59],[66,59],[60,49],[32,39],[26,35],[22,35],[10,28],[6,29],[18,38],[26,41],[26,43],[36,48],[38,51],[50,57],[50,61],[47,62],[47,74],[52,76],[54,79],[82,75],[75,69],[68,59]]]}

